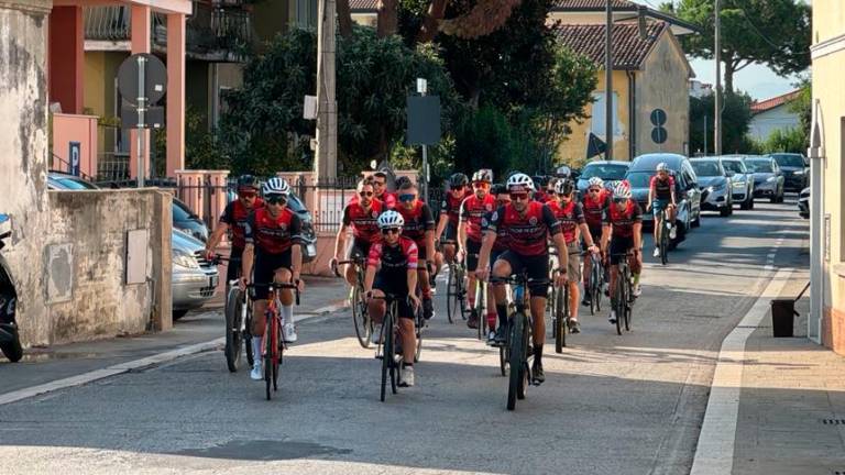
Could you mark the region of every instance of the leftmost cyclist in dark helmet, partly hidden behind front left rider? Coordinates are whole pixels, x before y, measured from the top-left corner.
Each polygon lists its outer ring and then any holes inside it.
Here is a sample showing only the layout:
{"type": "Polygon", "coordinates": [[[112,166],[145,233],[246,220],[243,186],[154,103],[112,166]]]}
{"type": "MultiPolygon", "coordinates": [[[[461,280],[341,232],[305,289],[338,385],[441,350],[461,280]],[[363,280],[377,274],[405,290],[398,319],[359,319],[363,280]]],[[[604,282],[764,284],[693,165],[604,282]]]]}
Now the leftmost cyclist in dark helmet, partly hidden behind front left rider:
{"type": "Polygon", "coordinates": [[[238,178],[238,199],[226,206],[220,222],[206,243],[206,258],[212,261],[223,234],[231,231],[232,248],[226,269],[227,283],[237,280],[241,276],[241,257],[243,256],[243,247],[246,245],[243,236],[244,225],[250,213],[264,206],[264,201],[257,194],[259,180],[252,175],[241,175],[238,178]]]}

